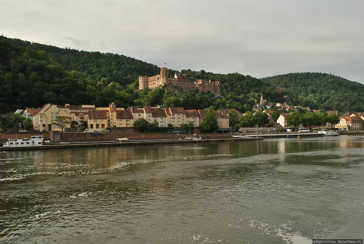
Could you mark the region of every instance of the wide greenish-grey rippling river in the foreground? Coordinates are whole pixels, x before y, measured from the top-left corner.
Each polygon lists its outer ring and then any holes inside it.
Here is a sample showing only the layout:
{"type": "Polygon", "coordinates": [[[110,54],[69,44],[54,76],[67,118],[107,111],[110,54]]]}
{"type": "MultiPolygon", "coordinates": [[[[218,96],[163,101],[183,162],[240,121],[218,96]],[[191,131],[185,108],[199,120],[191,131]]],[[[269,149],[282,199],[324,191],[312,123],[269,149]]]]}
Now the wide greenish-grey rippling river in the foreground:
{"type": "Polygon", "coordinates": [[[0,152],[0,243],[312,243],[364,211],[364,137],[0,152]]]}

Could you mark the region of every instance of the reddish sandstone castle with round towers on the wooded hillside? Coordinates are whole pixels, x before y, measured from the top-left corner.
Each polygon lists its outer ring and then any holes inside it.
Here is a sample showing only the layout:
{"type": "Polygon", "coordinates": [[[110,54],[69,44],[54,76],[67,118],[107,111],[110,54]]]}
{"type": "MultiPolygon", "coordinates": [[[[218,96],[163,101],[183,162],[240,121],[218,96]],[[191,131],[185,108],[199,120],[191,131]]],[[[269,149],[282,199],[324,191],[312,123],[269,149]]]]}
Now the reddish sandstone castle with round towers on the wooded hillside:
{"type": "Polygon", "coordinates": [[[168,69],[161,68],[159,75],[155,76],[139,76],[139,89],[142,90],[144,87],[154,89],[157,87],[169,88],[174,91],[183,92],[194,92],[198,88],[199,92],[204,93],[211,92],[215,96],[220,96],[220,82],[219,81],[206,81],[206,79],[197,79],[196,81],[191,80],[187,74],[174,74],[174,77],[168,77],[168,69]]]}

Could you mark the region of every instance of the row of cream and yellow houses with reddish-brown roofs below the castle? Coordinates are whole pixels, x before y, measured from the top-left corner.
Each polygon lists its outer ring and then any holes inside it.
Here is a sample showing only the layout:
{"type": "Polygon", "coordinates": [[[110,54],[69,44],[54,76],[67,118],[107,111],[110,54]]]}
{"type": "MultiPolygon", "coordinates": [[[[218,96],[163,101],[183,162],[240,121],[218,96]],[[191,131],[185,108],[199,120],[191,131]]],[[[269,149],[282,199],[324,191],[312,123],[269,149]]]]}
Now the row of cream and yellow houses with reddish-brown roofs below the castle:
{"type": "MultiPolygon", "coordinates": [[[[60,127],[52,123],[60,116],[71,117],[79,125],[87,122],[88,128],[95,131],[105,131],[107,128],[132,128],[135,120],[144,118],[149,123],[158,122],[159,127],[179,127],[181,124],[193,121],[194,127],[199,127],[207,112],[212,110],[185,110],[181,107],[128,107],[127,109],[115,106],[111,103],[108,107],[95,107],[94,105],[74,106],[66,104],[57,106],[50,103],[39,109],[26,109],[24,117],[30,117],[33,121],[33,129],[39,131],[60,131],[60,127]]],[[[228,110],[212,111],[217,118],[218,130],[229,130],[228,110]]],[[[70,125],[67,125],[66,128],[70,125]]]]}

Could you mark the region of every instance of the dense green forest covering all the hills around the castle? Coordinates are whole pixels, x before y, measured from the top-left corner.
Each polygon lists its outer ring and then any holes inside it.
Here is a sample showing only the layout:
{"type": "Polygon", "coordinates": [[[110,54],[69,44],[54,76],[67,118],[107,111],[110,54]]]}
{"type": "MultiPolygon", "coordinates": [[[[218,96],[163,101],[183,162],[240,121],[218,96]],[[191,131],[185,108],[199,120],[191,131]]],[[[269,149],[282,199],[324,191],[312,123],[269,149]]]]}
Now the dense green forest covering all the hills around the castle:
{"type": "Polygon", "coordinates": [[[193,80],[218,80],[221,97],[157,88],[138,90],[139,75],[159,74],[160,68],[124,55],[78,51],[0,36],[0,113],[41,107],[45,103],[115,102],[118,107],[145,104],[185,109],[237,109],[245,112],[263,95],[268,102],[287,102],[311,109],[362,111],[364,85],[339,76],[294,73],[263,79],[249,75],[182,72],[193,80]],[[280,89],[282,94],[280,94],[280,89]]]}

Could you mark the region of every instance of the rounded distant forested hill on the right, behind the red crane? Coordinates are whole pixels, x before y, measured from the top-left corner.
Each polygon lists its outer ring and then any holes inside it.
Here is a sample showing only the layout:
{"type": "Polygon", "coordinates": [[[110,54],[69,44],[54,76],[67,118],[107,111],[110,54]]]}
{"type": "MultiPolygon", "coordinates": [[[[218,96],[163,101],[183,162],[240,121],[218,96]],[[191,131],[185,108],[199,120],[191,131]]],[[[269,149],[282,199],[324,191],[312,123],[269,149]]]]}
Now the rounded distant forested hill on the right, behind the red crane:
{"type": "Polygon", "coordinates": [[[261,79],[272,87],[284,88],[295,104],[327,110],[364,111],[364,85],[331,74],[290,73],[261,79]]]}

